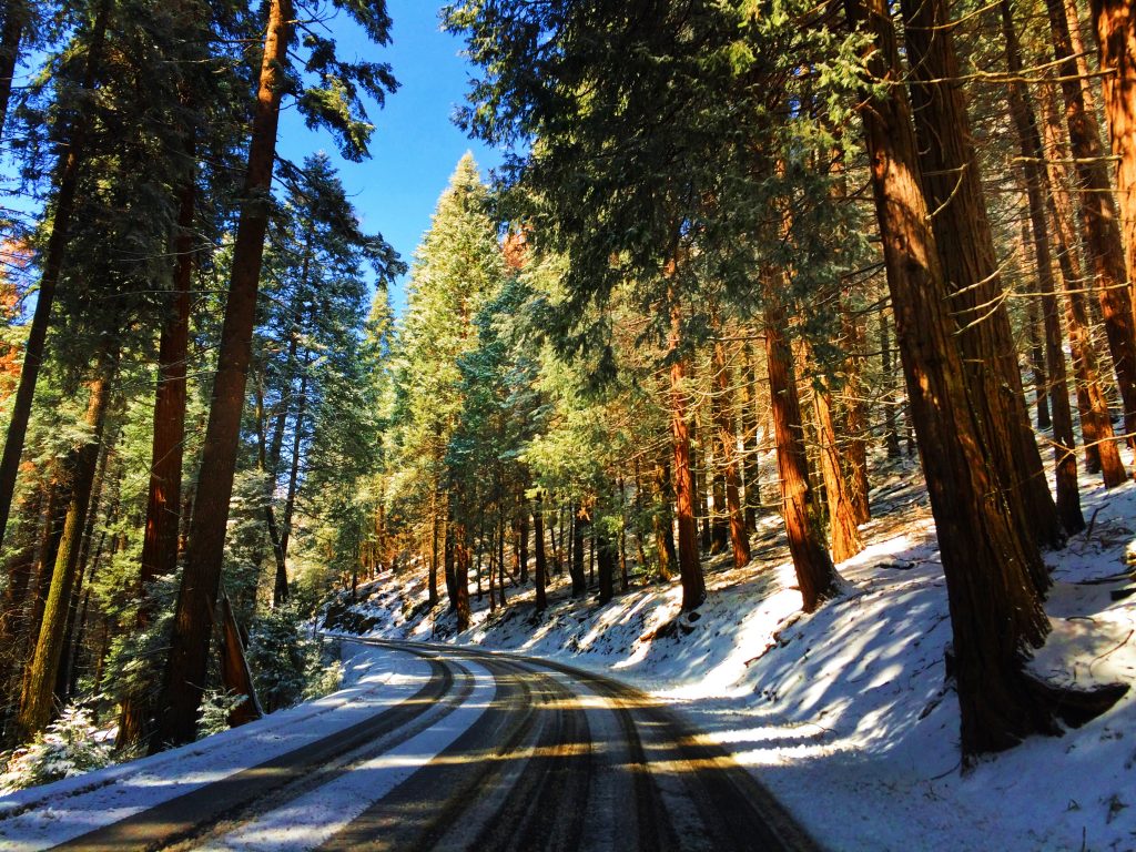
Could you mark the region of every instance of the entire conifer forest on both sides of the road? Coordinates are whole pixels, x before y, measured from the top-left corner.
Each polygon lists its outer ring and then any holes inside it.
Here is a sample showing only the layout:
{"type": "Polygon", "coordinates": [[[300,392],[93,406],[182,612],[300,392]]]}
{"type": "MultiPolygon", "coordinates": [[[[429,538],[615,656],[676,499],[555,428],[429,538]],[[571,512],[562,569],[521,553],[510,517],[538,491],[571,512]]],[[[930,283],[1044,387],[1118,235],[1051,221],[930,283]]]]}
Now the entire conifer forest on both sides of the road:
{"type": "MultiPolygon", "coordinates": [[[[395,90],[328,10],[5,9],[9,743],[75,698],[135,749],[192,740],[207,687],[281,705],[257,630],[299,646],[287,612],[385,569],[458,629],[563,574],[692,611],[779,515],[812,612],[913,453],[963,752],[1122,694],[1027,667],[1078,468],[1120,485],[1136,436],[1122,0],[452,3],[459,120],[506,161],[458,164],[399,317],[329,162],[275,151],[290,102],[365,157],[395,90]]],[[[382,2],[342,10],[387,42],[382,2]]]]}

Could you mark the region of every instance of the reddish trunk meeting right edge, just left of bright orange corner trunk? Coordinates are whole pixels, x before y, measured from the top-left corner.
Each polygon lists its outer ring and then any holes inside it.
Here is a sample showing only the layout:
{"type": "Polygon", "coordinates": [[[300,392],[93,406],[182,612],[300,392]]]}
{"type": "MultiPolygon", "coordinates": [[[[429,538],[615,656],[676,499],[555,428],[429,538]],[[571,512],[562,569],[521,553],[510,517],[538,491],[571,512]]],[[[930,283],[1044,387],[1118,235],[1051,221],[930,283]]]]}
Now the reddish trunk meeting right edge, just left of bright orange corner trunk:
{"type": "Polygon", "coordinates": [[[1066,8],[1062,0],[1045,0],[1045,7],[1053,35],[1053,53],[1061,75],[1069,145],[1077,168],[1086,261],[1096,279],[1117,387],[1125,407],[1125,432],[1129,443],[1136,446],[1136,317],[1133,316],[1131,286],[1127,278],[1116,202],[1096,124],[1085,106],[1077,75],[1066,8]]]}

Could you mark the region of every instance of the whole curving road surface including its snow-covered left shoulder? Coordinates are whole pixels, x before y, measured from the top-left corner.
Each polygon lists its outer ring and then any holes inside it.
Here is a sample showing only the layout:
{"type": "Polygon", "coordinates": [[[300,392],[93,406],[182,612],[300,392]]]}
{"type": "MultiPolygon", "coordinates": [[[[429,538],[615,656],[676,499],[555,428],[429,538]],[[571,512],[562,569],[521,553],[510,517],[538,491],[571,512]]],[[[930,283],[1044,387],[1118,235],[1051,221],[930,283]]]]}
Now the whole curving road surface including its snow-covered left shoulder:
{"type": "Polygon", "coordinates": [[[640,692],[521,657],[367,644],[393,662],[356,701],[0,800],[0,850],[816,849],[640,692]]]}

